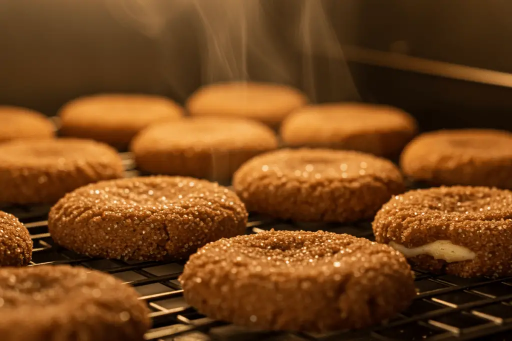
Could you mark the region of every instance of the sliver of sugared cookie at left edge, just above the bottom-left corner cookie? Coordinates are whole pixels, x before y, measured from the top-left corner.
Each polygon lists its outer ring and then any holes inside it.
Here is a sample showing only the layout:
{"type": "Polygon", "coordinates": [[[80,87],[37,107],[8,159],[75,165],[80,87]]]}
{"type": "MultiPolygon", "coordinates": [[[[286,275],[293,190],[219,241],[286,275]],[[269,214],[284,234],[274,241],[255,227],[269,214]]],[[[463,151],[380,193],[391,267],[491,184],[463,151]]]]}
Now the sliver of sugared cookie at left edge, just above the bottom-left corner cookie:
{"type": "Polygon", "coordinates": [[[25,266],[32,260],[32,239],[12,214],[0,211],[0,266],[25,266]]]}

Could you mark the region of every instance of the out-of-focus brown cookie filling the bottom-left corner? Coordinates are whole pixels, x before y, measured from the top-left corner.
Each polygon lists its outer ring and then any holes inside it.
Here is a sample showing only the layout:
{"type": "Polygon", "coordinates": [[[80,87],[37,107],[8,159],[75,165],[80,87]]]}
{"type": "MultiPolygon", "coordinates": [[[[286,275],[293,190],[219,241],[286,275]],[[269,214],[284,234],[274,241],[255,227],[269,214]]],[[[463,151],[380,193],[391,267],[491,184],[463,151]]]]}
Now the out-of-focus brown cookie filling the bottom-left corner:
{"type": "Polygon", "coordinates": [[[0,268],[2,341],[140,341],[151,322],[137,292],[69,265],[0,268]]]}

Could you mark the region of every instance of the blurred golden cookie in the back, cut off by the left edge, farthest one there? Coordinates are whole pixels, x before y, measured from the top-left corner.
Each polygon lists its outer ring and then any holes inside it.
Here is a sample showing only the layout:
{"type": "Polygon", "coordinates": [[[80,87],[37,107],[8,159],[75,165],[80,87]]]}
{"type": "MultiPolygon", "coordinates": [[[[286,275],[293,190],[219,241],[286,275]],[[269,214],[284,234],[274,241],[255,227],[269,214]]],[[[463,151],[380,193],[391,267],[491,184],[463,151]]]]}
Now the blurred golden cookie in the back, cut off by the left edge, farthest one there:
{"type": "Polygon", "coordinates": [[[0,106],[0,142],[17,139],[51,139],[55,126],[42,113],[17,107],[0,106]]]}

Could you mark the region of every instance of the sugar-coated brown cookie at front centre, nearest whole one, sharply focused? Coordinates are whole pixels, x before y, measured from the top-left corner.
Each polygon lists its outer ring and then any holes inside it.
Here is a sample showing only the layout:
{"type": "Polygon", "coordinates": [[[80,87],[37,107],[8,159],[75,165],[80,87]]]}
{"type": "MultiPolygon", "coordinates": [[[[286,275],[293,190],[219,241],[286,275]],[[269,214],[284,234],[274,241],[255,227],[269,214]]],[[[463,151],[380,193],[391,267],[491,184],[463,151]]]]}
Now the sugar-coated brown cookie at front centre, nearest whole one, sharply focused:
{"type": "Polygon", "coordinates": [[[400,253],[323,231],[221,239],[190,256],[179,280],[199,312],[268,330],[367,327],[407,308],[416,295],[400,253]]]}

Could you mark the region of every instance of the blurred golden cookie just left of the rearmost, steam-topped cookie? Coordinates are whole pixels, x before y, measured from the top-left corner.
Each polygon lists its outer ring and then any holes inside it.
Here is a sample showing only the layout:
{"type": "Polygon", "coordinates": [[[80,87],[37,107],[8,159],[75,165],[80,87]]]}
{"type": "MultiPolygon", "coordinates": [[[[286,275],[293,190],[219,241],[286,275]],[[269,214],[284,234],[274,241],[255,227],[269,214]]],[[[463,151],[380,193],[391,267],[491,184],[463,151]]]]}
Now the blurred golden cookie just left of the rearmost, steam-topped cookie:
{"type": "Polygon", "coordinates": [[[101,94],[70,101],[58,115],[62,135],[125,149],[140,130],[155,122],[178,120],[183,109],[160,96],[101,94]]]}

